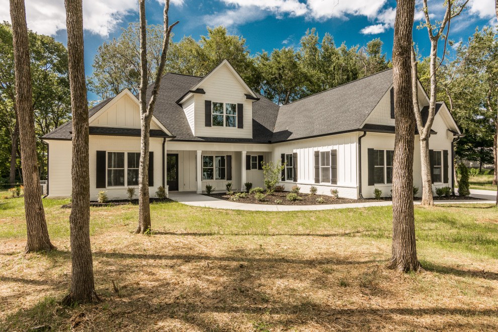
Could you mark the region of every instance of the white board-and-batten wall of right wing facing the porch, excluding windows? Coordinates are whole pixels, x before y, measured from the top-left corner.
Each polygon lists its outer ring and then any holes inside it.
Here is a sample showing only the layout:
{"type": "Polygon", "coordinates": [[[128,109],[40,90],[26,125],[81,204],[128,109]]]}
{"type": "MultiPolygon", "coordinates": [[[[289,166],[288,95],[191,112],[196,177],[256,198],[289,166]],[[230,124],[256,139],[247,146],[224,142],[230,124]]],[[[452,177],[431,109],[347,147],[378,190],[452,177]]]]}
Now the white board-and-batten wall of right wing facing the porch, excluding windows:
{"type": "Polygon", "coordinates": [[[356,132],[341,135],[331,135],[319,138],[303,139],[291,142],[277,143],[273,149],[273,161],[279,162],[282,153],[297,152],[297,182],[282,181],[286,191],[294,185],[301,188],[301,192],[309,193],[311,186],[317,188],[317,193],[330,195],[331,188],[339,190],[339,196],[357,198],[357,137],[356,132]],[[338,182],[314,183],[314,151],[337,150],[338,182]]]}

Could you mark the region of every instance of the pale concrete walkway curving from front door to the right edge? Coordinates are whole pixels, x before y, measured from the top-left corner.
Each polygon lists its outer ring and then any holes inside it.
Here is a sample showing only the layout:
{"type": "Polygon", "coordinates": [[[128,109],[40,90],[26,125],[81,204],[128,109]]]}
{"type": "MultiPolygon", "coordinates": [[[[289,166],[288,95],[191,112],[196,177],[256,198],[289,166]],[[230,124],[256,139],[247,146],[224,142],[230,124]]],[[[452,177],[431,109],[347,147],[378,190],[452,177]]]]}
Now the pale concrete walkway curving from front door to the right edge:
{"type": "MultiPolygon", "coordinates": [[[[476,200],[458,200],[458,201],[435,201],[436,204],[461,204],[461,203],[495,203],[496,193],[490,190],[470,190],[471,196],[485,199],[484,201],[476,200]]],[[[199,195],[193,192],[171,192],[169,198],[182,204],[191,206],[209,207],[214,209],[229,210],[247,210],[247,211],[311,211],[311,210],[333,210],[348,208],[365,208],[370,206],[389,206],[392,202],[367,202],[367,203],[348,203],[348,204],[323,204],[323,205],[265,205],[265,204],[247,204],[225,201],[214,197],[199,195]]],[[[420,204],[414,202],[413,204],[420,204]]]]}

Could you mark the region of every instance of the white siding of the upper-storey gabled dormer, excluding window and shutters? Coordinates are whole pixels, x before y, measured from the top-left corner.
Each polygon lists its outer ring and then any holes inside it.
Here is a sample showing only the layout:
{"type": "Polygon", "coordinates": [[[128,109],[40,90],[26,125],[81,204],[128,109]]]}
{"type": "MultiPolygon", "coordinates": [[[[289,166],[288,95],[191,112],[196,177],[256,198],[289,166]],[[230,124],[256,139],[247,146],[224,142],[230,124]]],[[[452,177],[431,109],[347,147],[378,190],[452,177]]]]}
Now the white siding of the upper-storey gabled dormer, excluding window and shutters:
{"type": "MultiPolygon", "coordinates": [[[[252,101],[246,100],[244,94],[248,92],[240,84],[234,74],[223,65],[211,74],[199,86],[206,94],[196,94],[195,100],[195,135],[199,137],[253,137],[253,111],[252,101]],[[205,104],[208,100],[218,103],[242,104],[243,105],[243,128],[236,127],[206,127],[205,104]]],[[[190,120],[189,120],[190,121],[190,120]]],[[[238,114],[237,114],[238,121],[238,114]]],[[[189,122],[190,123],[190,122],[189,122]]],[[[236,122],[237,123],[237,122],[236,122]]]]}

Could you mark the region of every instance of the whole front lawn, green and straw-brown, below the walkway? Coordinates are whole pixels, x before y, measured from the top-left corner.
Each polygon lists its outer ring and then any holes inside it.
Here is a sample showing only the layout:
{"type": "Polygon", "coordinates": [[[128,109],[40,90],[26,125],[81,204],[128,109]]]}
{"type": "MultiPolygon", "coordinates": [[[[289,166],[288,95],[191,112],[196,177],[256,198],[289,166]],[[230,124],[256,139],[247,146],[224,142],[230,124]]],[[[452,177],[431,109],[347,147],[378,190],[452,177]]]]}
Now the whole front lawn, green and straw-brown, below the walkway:
{"type": "Polygon", "coordinates": [[[305,212],[151,205],[91,210],[102,302],[62,307],[69,210],[44,200],[58,251],[23,255],[22,199],[0,200],[0,330],[328,331],[498,329],[498,210],[416,207],[425,271],[385,269],[391,208],[305,212]],[[112,282],[119,291],[114,292],[112,282]]]}

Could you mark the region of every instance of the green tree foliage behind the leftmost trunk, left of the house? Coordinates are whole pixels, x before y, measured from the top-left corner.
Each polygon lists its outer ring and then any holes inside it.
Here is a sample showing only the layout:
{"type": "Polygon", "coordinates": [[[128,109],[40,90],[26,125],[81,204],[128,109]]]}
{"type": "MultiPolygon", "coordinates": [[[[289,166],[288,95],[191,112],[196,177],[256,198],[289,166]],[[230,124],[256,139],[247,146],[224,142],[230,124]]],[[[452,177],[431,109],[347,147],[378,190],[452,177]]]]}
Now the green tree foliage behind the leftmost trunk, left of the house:
{"type": "MultiPolygon", "coordinates": [[[[0,24],[0,127],[3,134],[13,136],[16,124],[14,111],[14,51],[12,27],[9,23],[0,24]]],[[[50,36],[38,35],[29,31],[31,74],[33,80],[33,108],[35,111],[36,136],[43,136],[70,118],[70,93],[67,78],[67,50],[50,36]]],[[[2,140],[2,150],[10,151],[2,140]]],[[[16,143],[17,144],[17,143],[16,143]]],[[[40,177],[46,176],[46,147],[37,141],[40,160],[40,177]]],[[[2,154],[3,156],[3,154],[2,154]]],[[[10,159],[10,153],[8,154],[10,159]]],[[[19,153],[18,153],[19,156],[19,153]]],[[[9,167],[0,160],[0,177],[8,177],[9,167]]],[[[18,161],[20,165],[20,160],[18,161]]],[[[20,180],[18,178],[18,180],[20,180]]]]}

